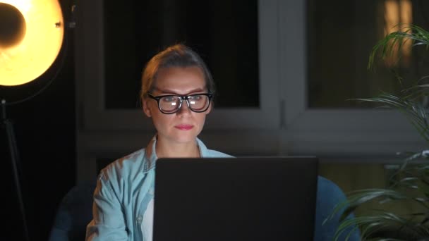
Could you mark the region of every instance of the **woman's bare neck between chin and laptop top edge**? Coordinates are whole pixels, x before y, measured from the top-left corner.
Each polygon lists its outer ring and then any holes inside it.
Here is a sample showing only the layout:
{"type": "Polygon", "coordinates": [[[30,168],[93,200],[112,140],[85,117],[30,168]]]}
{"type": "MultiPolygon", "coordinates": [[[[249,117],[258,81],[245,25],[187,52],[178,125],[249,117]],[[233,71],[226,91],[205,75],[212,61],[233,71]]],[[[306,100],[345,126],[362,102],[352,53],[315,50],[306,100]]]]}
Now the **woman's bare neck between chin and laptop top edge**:
{"type": "Polygon", "coordinates": [[[162,157],[200,157],[200,149],[195,142],[171,143],[167,140],[157,139],[155,150],[158,158],[162,157]]]}

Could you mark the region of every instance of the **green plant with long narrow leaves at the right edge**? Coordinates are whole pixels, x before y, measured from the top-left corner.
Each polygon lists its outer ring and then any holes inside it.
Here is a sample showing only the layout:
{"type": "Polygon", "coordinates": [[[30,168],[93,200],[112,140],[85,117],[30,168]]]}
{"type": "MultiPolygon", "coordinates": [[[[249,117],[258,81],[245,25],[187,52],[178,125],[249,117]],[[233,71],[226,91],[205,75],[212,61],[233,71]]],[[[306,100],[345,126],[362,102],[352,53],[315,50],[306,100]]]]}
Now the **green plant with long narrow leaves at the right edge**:
{"type": "MultiPolygon", "coordinates": [[[[429,32],[416,25],[400,26],[399,31],[390,33],[373,47],[368,68],[373,68],[377,56],[391,58],[395,50],[407,42],[411,42],[413,48],[418,47],[419,51],[428,51],[429,32]]],[[[399,60],[400,56],[397,57],[399,60]]],[[[403,81],[401,78],[398,80],[403,81]]],[[[428,80],[429,75],[406,87],[401,83],[399,94],[383,93],[378,97],[358,100],[404,113],[429,144],[429,110],[422,101],[429,97],[428,80]]],[[[332,216],[339,211],[343,214],[335,240],[350,227],[360,229],[362,240],[429,240],[429,148],[403,154],[406,154],[404,161],[389,179],[387,188],[349,192],[347,201],[336,206],[332,216]],[[357,209],[365,209],[368,204],[371,204],[370,209],[361,211],[354,218],[345,218],[357,209]],[[395,209],[394,204],[413,205],[416,209],[403,212],[395,209]]]]}

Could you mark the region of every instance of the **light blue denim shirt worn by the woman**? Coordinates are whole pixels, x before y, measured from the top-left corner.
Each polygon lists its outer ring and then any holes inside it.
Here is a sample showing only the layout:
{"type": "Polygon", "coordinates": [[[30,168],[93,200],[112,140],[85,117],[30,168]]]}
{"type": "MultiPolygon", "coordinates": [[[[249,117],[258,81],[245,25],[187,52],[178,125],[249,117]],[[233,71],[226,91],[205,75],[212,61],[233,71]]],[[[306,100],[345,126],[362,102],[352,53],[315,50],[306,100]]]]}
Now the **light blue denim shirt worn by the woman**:
{"type": "MultiPolygon", "coordinates": [[[[207,149],[197,138],[202,157],[232,157],[207,149]]],[[[140,149],[103,168],[94,192],[93,219],[86,240],[144,240],[141,230],[147,204],[155,184],[156,137],[147,158],[140,149]]],[[[144,240],[152,241],[152,240],[144,240]]]]}

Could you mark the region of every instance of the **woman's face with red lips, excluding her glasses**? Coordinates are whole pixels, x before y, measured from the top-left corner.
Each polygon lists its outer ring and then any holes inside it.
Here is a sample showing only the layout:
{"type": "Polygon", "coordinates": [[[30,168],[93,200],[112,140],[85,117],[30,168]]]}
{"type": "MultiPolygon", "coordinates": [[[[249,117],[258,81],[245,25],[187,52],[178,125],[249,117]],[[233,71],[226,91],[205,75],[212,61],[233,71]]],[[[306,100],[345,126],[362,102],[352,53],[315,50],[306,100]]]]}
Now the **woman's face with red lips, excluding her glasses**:
{"type": "MultiPolygon", "coordinates": [[[[157,73],[154,86],[155,90],[152,94],[155,97],[167,94],[185,96],[207,93],[203,71],[196,66],[162,68],[157,73]]],[[[143,101],[143,111],[152,118],[158,138],[176,143],[195,142],[195,137],[203,130],[205,115],[210,113],[211,108],[210,104],[207,111],[196,113],[191,111],[183,100],[179,111],[164,114],[159,111],[155,99],[147,97],[143,101]]]]}

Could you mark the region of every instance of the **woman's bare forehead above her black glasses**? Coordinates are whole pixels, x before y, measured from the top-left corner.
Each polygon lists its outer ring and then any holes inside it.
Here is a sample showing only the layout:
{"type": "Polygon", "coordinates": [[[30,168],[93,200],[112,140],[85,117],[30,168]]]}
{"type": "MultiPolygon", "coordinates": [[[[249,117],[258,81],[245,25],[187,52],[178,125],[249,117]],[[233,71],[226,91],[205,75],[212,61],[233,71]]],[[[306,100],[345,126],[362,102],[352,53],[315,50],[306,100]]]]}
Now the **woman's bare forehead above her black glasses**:
{"type": "Polygon", "coordinates": [[[195,89],[205,89],[204,73],[198,66],[162,68],[154,83],[160,92],[187,94],[195,89]]]}

